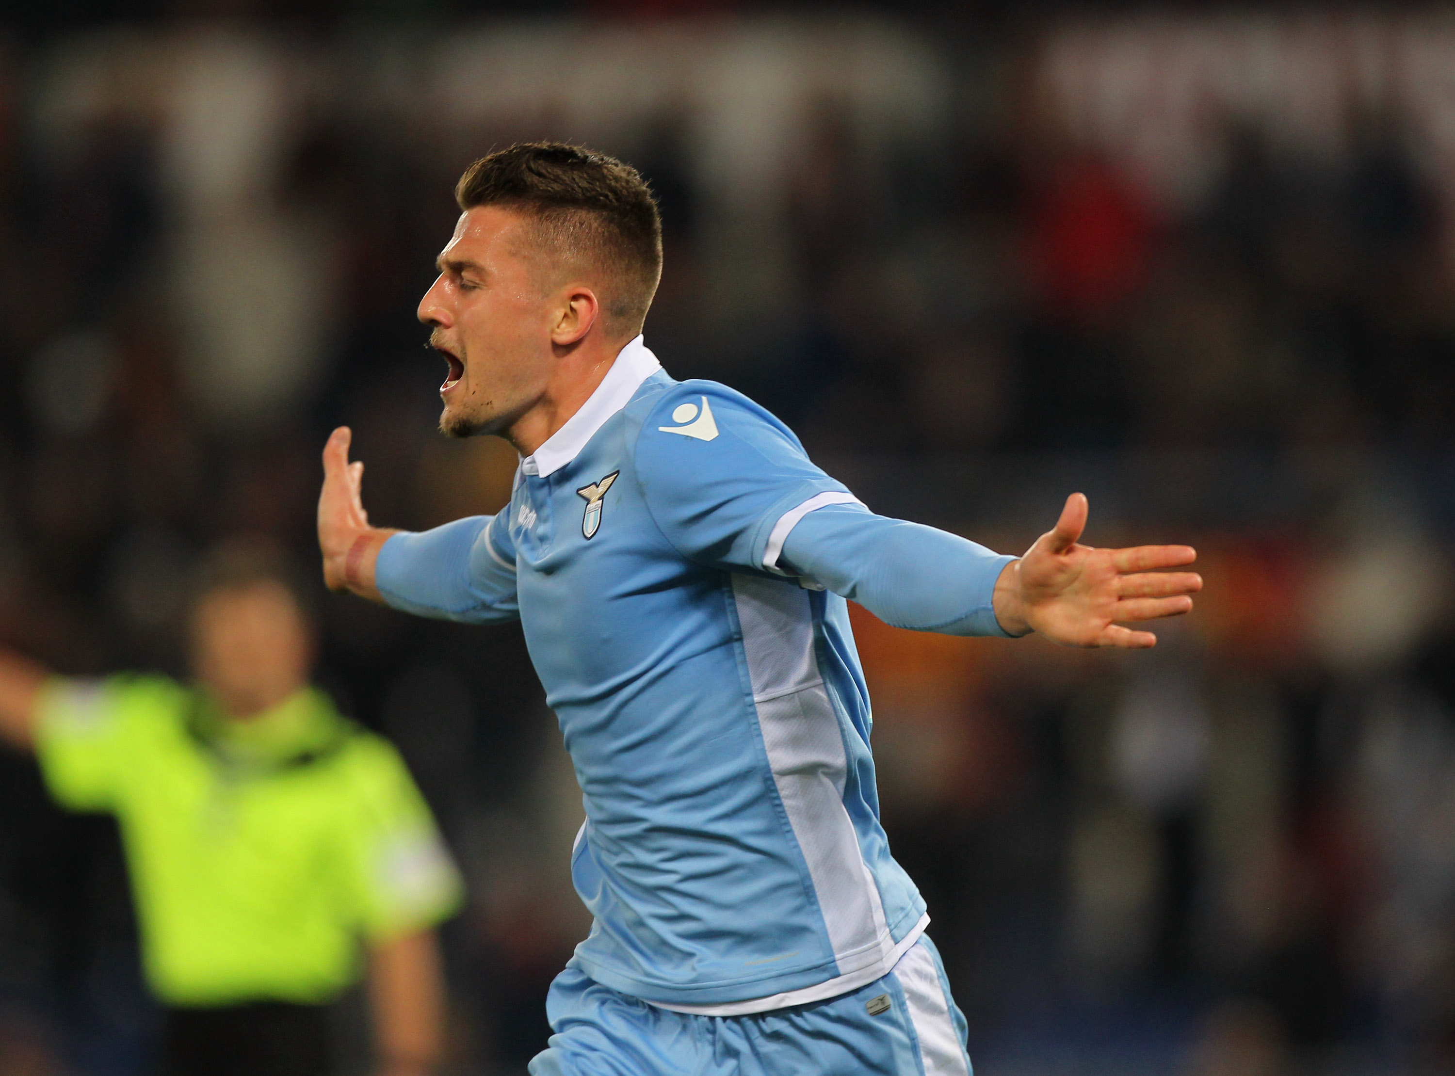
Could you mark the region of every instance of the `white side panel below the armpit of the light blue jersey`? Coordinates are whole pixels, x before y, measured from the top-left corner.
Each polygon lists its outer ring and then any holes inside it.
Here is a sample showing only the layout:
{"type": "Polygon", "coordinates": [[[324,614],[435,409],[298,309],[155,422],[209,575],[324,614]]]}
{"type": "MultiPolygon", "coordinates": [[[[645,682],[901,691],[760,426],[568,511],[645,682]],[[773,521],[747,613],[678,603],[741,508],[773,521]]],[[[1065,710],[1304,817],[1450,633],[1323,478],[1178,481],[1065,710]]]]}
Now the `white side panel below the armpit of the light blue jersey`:
{"type": "Polygon", "coordinates": [[[840,974],[880,963],[888,971],[895,944],[844,808],[848,762],[813,651],[809,593],[735,574],[733,595],[768,765],[808,861],[840,974]]]}

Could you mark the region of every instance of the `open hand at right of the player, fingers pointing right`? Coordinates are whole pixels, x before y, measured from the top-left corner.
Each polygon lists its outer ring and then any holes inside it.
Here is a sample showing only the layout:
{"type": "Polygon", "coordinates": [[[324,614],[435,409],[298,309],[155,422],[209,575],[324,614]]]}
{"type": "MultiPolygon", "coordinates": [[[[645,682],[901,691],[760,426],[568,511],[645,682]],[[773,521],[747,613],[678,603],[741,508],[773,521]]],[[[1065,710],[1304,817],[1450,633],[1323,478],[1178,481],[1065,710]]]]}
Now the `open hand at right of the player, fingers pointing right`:
{"type": "Polygon", "coordinates": [[[1190,612],[1202,576],[1163,569],[1192,564],[1197,551],[1189,545],[1083,545],[1088,510],[1085,494],[1072,493],[1055,528],[1005,566],[995,585],[995,618],[1011,635],[1037,631],[1062,646],[1157,646],[1151,631],[1122,624],[1190,612]]]}

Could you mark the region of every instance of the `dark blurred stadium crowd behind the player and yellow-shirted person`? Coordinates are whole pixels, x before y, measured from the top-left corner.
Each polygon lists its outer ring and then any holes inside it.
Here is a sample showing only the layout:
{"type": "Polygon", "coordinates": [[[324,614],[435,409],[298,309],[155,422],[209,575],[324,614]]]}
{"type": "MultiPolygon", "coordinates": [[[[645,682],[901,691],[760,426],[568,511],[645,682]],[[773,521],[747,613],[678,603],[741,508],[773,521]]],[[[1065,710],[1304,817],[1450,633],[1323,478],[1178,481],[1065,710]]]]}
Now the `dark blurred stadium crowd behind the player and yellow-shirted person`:
{"type": "MultiPolygon", "coordinates": [[[[885,822],[982,1072],[1455,1070],[1455,22],[869,16],[151,26],[0,51],[0,637],[182,665],[192,558],[314,553],[338,423],[381,523],[503,503],[413,321],[460,170],[570,138],[666,225],[647,343],[874,510],[1014,551],[1192,541],[1141,656],[857,621],[885,822]]],[[[583,936],[514,630],[327,599],[320,680],[470,880],[461,1073],[583,936]]],[[[340,1012],[346,1037],[351,1021],[340,1012]]],[[[134,1073],[115,832],[0,758],[0,1070],[134,1073]]]]}

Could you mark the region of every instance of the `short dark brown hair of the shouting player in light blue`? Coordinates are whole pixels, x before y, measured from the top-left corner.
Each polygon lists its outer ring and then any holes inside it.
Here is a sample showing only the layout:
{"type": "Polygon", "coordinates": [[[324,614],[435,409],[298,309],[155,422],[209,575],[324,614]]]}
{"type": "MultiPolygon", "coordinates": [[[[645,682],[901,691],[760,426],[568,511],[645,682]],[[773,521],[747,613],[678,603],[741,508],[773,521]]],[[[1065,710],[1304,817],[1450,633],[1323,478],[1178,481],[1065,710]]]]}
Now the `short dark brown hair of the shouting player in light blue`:
{"type": "Polygon", "coordinates": [[[517,142],[466,169],[455,202],[528,214],[549,247],[598,260],[613,292],[601,297],[608,329],[642,332],[662,279],[662,217],[630,164],[567,142],[517,142]]]}

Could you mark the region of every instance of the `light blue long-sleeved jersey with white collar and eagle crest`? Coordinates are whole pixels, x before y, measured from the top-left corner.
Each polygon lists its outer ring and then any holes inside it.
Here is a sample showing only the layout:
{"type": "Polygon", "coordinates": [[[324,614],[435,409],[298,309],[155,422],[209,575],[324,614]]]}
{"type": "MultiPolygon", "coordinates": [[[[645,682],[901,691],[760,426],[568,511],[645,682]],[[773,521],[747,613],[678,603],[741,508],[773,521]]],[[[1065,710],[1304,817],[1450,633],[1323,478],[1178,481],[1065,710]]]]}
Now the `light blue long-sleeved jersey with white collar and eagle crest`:
{"type": "Polygon", "coordinates": [[[572,875],[595,922],[572,965],[738,1015],[857,990],[928,922],[879,823],[845,598],[998,634],[1008,560],[874,516],[783,423],[674,381],[637,337],[506,510],[396,535],[377,582],[410,612],[521,619],[586,810],[572,875]]]}

